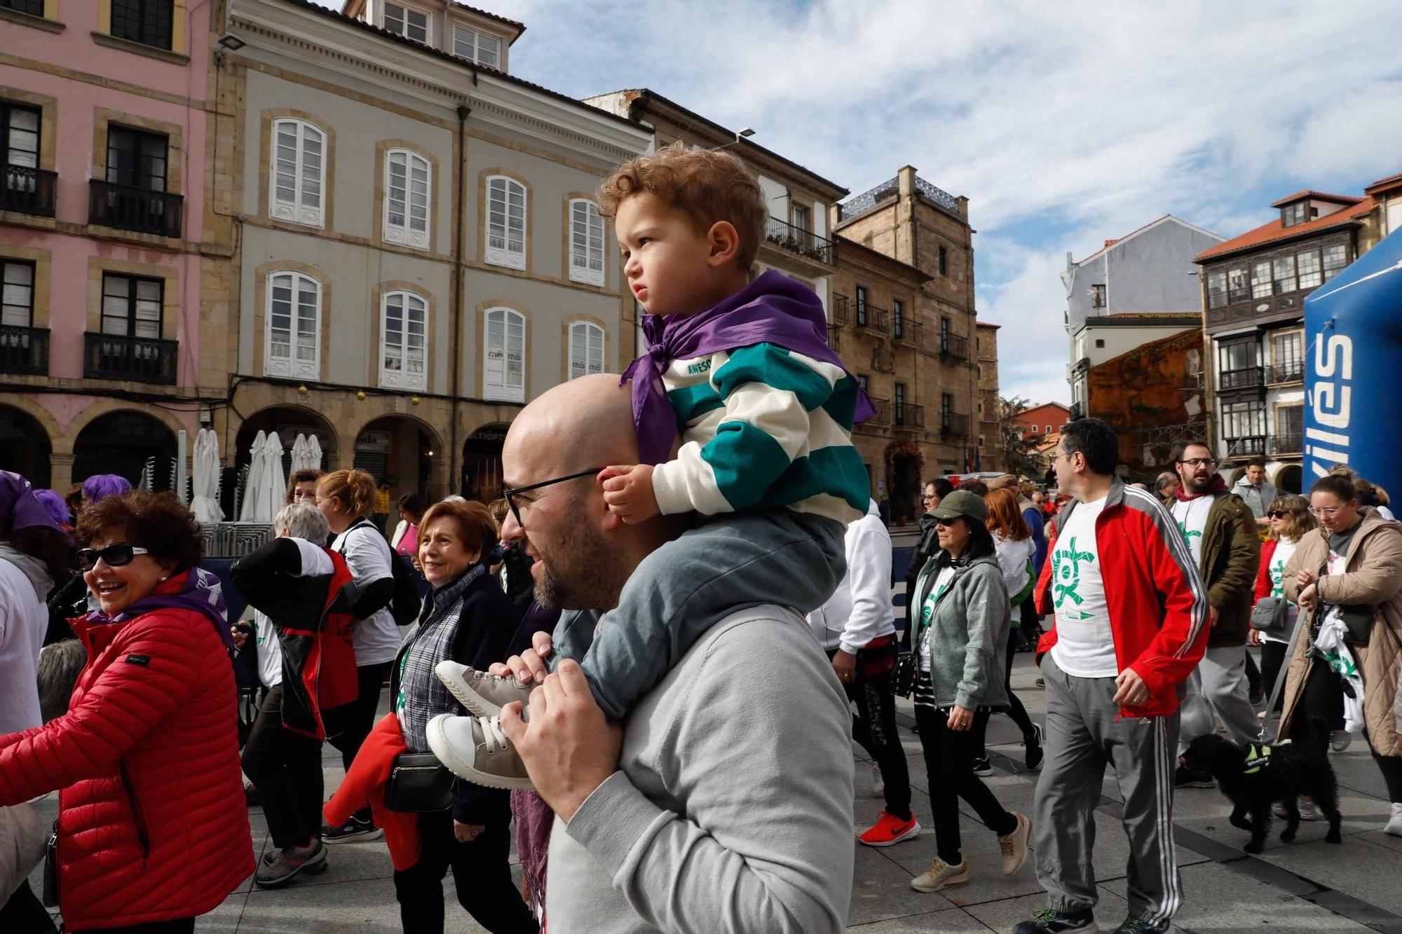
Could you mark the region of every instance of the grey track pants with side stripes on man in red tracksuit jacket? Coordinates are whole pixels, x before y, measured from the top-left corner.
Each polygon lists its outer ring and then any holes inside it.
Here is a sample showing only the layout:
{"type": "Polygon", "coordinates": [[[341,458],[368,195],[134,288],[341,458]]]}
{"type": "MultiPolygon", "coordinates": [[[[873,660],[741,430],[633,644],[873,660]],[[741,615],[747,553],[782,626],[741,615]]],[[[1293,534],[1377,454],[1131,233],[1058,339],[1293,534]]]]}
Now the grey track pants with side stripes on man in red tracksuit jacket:
{"type": "Polygon", "coordinates": [[[1182,899],[1173,854],[1178,715],[1116,719],[1115,679],[1067,675],[1050,654],[1042,677],[1046,759],[1032,819],[1037,882],[1060,912],[1095,907],[1095,808],[1110,764],[1124,798],[1130,912],[1155,924],[1173,917],[1182,899]]]}

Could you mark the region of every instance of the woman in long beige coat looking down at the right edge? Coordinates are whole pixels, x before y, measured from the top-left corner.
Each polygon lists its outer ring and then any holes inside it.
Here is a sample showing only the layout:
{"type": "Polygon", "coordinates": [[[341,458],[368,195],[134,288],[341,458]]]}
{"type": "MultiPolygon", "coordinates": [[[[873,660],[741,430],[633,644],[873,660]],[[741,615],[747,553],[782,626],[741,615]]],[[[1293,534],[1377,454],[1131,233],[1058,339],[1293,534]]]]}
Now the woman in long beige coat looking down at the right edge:
{"type": "Polygon", "coordinates": [[[1366,735],[1392,802],[1387,832],[1402,836],[1402,747],[1394,707],[1402,669],[1402,523],[1360,508],[1353,484],[1332,475],[1311,488],[1309,512],[1321,527],[1305,536],[1286,565],[1286,597],[1311,613],[1311,625],[1301,627],[1290,661],[1280,735],[1328,749],[1342,689],[1330,666],[1309,649],[1326,607],[1371,610],[1367,645],[1349,648],[1363,677],[1366,735]]]}

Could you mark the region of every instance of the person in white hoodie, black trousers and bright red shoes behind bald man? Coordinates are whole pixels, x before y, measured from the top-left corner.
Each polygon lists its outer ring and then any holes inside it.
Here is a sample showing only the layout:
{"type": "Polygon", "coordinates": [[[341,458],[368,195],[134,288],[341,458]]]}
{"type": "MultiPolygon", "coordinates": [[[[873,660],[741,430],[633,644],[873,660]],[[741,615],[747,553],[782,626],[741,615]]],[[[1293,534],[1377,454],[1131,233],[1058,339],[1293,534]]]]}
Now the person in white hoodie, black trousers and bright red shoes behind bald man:
{"type": "Polygon", "coordinates": [[[896,733],[896,624],[890,604],[890,533],[876,502],[847,526],[847,575],[827,603],[808,614],[813,637],[833,661],[847,698],[857,704],[852,739],[872,757],[872,790],[886,806],[857,834],[869,847],[889,847],[920,834],[910,809],[910,770],[896,733]]]}

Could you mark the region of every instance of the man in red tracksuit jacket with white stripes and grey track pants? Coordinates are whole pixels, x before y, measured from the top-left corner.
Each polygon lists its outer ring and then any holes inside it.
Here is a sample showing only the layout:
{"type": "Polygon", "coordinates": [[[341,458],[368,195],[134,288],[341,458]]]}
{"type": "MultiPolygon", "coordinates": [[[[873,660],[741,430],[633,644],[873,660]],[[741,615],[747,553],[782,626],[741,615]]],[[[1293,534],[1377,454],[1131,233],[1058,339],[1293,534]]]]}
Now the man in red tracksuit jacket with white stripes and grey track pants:
{"type": "Polygon", "coordinates": [[[1116,475],[1105,422],[1061,429],[1053,470],[1071,501],[1049,523],[1036,600],[1056,625],[1037,644],[1046,760],[1033,848],[1049,907],[1014,934],[1095,931],[1091,841],[1106,764],[1124,798],[1129,916],[1115,934],[1166,931],[1182,900],[1173,770],[1183,682],[1207,645],[1207,589],[1172,517],[1116,475]]]}

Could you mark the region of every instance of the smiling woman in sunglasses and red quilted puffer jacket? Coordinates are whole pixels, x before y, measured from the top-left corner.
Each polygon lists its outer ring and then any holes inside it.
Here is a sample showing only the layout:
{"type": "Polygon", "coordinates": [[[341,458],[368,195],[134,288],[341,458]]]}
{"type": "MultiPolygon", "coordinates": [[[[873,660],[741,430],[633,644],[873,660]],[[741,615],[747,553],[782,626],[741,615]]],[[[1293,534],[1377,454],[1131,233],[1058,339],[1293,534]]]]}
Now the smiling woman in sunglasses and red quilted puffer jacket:
{"type": "Polygon", "coordinates": [[[64,930],[193,931],[254,871],[219,579],[170,494],[108,496],[79,539],[88,665],[66,715],[0,736],[0,805],[59,790],[64,930]]]}

